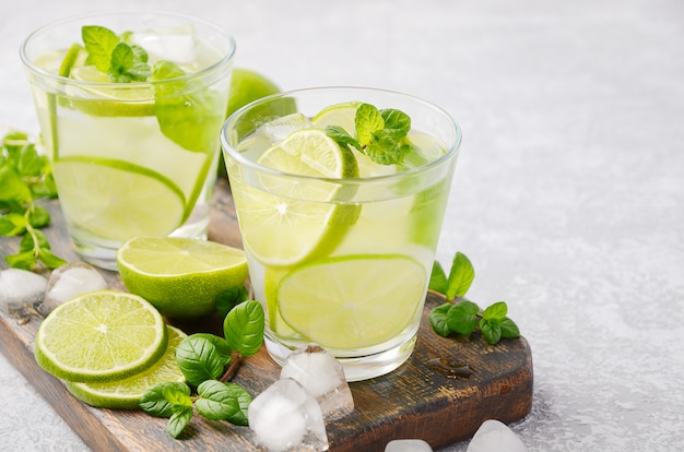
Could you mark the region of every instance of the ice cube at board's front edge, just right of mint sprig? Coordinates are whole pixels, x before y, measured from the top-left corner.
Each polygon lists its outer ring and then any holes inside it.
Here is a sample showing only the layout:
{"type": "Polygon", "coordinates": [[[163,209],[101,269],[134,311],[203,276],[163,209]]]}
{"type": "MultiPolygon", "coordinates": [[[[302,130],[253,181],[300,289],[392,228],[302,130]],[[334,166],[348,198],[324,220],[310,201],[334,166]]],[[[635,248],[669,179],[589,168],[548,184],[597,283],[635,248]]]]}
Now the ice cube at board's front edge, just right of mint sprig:
{"type": "Polygon", "coordinates": [[[293,379],[278,380],[255,397],[247,418],[257,442],[271,452],[328,450],[320,406],[293,379]]]}

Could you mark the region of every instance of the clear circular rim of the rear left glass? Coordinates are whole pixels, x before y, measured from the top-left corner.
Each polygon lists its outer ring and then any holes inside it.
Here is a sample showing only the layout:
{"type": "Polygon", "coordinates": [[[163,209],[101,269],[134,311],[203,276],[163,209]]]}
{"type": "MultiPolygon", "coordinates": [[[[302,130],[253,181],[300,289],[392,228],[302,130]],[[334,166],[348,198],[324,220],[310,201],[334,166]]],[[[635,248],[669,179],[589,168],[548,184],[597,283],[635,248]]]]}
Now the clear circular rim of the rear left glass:
{"type": "MultiPolygon", "coordinates": [[[[78,36],[74,40],[78,41],[80,38],[80,36],[78,36]]],[[[24,63],[24,67],[28,70],[31,70],[32,72],[52,80],[52,81],[58,81],[61,83],[69,83],[71,85],[74,86],[84,86],[84,87],[89,87],[89,86],[98,86],[98,87],[107,87],[107,88],[126,88],[126,90],[131,90],[131,88],[139,88],[139,87],[150,87],[150,86],[154,86],[154,85],[160,85],[160,84],[166,84],[169,82],[180,82],[180,81],[186,81],[186,80],[191,80],[191,79],[198,79],[198,78],[202,78],[204,75],[207,75],[208,73],[214,72],[217,68],[221,68],[227,63],[231,62],[231,60],[233,59],[233,57],[235,56],[235,51],[236,51],[236,41],[235,41],[235,37],[228,33],[228,31],[224,27],[222,27],[221,25],[216,24],[215,22],[212,21],[208,21],[205,19],[202,19],[200,16],[197,15],[192,15],[192,14],[185,14],[185,13],[177,13],[177,12],[169,12],[169,11],[158,11],[158,10],[122,10],[122,11],[92,11],[92,12],[86,12],[86,13],[81,13],[81,14],[74,14],[74,15],[69,15],[66,17],[61,17],[48,23],[45,23],[44,25],[35,28],[33,32],[31,32],[31,34],[28,34],[28,36],[26,36],[26,38],[22,41],[21,46],[20,46],[20,58],[22,59],[22,62],[24,63]],[[115,15],[151,15],[151,16],[166,16],[166,17],[176,17],[176,19],[185,19],[188,21],[191,21],[193,23],[200,23],[202,25],[209,26],[210,28],[215,29],[216,32],[219,32],[220,34],[222,34],[227,41],[229,43],[231,48],[228,49],[228,51],[222,56],[222,58],[220,60],[217,60],[216,62],[214,62],[213,64],[208,66],[207,68],[203,68],[197,72],[191,72],[191,73],[187,73],[185,75],[181,76],[177,76],[174,79],[165,79],[165,80],[154,80],[154,81],[146,81],[146,82],[129,82],[129,83],[116,83],[116,82],[93,82],[93,81],[86,81],[86,80],[76,80],[76,79],[71,79],[68,76],[62,76],[59,74],[56,74],[54,72],[49,72],[46,71],[42,68],[39,68],[38,66],[36,66],[34,63],[34,60],[28,58],[27,55],[27,47],[31,44],[31,41],[38,35],[40,35],[42,33],[45,33],[51,28],[55,28],[59,25],[64,25],[68,23],[76,23],[79,21],[85,20],[85,19],[90,19],[90,17],[97,17],[97,16],[115,16],[115,15]]]]}

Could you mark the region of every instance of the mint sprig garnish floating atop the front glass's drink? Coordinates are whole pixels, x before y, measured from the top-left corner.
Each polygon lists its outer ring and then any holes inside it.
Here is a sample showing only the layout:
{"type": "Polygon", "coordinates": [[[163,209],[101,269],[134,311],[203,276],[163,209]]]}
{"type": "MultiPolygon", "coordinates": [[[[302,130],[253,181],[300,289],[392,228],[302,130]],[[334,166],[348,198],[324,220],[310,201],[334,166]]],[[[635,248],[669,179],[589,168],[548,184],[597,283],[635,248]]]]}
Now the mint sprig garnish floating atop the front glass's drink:
{"type": "Polygon", "coordinates": [[[411,118],[401,110],[378,110],[373,105],[361,104],[354,123],[355,138],[339,126],[328,126],[326,134],[340,146],[351,145],[380,165],[400,164],[411,151],[406,136],[411,118]]]}

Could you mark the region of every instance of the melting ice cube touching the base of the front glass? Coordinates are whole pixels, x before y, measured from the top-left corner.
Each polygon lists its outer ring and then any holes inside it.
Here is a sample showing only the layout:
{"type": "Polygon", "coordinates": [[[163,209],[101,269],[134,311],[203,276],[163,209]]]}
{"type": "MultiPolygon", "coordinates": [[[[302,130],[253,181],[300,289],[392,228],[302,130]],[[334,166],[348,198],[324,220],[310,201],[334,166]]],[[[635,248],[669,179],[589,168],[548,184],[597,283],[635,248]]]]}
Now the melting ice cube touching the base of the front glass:
{"type": "Polygon", "coordinates": [[[297,380],[320,404],[326,420],[340,419],[354,411],[342,365],[316,344],[291,353],[280,377],[297,380]]]}

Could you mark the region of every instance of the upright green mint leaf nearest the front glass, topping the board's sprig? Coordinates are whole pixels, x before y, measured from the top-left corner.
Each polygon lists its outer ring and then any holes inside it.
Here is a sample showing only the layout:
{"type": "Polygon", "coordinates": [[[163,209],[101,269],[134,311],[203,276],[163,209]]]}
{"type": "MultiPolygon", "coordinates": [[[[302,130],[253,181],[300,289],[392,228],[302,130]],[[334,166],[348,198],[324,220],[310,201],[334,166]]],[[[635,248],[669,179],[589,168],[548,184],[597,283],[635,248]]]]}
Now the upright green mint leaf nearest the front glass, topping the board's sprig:
{"type": "Polygon", "coordinates": [[[226,342],[244,357],[259,352],[263,342],[263,330],[264,314],[259,301],[241,302],[223,321],[226,342]]]}

